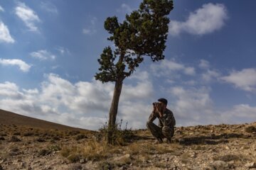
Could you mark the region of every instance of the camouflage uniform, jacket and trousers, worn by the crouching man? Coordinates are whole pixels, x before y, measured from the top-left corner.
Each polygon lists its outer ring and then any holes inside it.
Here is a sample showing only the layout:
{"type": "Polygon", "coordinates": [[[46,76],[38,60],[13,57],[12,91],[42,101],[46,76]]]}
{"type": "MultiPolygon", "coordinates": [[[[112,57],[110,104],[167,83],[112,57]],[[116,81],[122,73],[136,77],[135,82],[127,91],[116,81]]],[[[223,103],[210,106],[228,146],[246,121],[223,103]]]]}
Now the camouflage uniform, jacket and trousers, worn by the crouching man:
{"type": "Polygon", "coordinates": [[[159,142],[162,142],[162,138],[164,137],[166,137],[168,141],[171,141],[171,137],[174,136],[174,125],[176,125],[174,113],[167,108],[161,118],[157,111],[152,112],[151,115],[149,115],[149,121],[146,123],[146,127],[159,142]],[[159,125],[153,123],[156,118],[159,118],[159,125]]]}

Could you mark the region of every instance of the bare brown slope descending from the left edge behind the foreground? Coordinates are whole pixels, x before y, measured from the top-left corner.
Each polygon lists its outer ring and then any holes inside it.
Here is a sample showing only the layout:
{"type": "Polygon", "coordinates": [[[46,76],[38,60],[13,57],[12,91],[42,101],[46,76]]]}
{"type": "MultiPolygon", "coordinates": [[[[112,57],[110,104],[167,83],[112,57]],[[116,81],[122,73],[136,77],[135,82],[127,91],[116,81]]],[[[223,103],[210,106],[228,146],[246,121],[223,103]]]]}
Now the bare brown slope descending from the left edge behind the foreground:
{"type": "Polygon", "coordinates": [[[0,109],[0,125],[23,125],[31,128],[58,129],[58,130],[82,130],[58,123],[51,123],[46,120],[30,118],[0,109]]]}

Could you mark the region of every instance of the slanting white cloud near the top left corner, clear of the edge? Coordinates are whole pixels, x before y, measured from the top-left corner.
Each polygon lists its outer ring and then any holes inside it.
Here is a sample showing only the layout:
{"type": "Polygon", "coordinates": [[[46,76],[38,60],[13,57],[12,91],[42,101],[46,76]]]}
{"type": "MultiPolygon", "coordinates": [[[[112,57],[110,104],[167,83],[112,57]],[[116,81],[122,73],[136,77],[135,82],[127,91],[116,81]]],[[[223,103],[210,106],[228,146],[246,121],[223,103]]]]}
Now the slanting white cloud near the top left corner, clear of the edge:
{"type": "Polygon", "coordinates": [[[16,16],[18,16],[18,18],[20,18],[26,24],[29,30],[38,31],[36,23],[39,22],[40,19],[35,11],[26,6],[24,3],[18,3],[18,6],[15,8],[15,13],[16,16]]]}

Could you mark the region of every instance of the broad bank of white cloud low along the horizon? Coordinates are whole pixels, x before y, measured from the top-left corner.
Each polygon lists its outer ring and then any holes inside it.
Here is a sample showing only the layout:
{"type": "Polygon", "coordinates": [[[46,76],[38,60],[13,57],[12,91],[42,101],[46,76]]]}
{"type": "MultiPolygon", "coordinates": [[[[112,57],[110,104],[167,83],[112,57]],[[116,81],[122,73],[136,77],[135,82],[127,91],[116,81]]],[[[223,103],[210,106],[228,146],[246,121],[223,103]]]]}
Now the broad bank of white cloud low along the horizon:
{"type": "MultiPolygon", "coordinates": [[[[128,128],[146,128],[151,103],[160,97],[149,72],[136,72],[122,89],[117,119],[128,128]],[[134,84],[134,81],[137,83],[134,84]],[[156,92],[155,92],[156,91],[156,92]]],[[[57,74],[46,74],[40,89],[20,89],[6,81],[0,84],[0,108],[43,120],[97,130],[107,121],[114,84],[100,81],[72,83],[57,74]]],[[[255,119],[256,108],[247,104],[220,111],[206,86],[174,86],[165,89],[168,108],[174,111],[177,126],[245,123],[255,119]]]]}

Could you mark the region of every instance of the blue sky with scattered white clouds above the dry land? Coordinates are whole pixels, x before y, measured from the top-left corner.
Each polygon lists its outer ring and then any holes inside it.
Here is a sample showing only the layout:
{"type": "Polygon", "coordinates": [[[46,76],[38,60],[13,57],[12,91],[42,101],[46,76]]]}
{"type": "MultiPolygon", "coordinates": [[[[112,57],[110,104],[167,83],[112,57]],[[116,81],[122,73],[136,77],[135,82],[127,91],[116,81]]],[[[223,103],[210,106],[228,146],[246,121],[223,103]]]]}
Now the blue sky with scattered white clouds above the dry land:
{"type": "MultiPolygon", "coordinates": [[[[139,0],[0,0],[0,108],[98,130],[114,84],[94,76],[113,42],[107,17],[121,23],[139,0]]],[[[176,126],[256,121],[256,1],[176,0],[165,60],[145,57],[124,80],[117,114],[146,128],[152,104],[166,98],[176,126]]]]}

